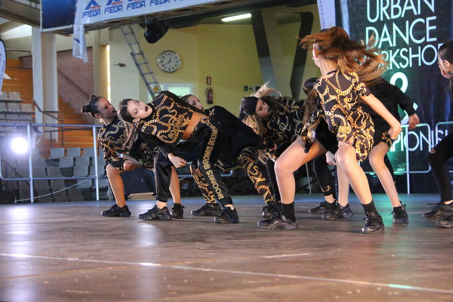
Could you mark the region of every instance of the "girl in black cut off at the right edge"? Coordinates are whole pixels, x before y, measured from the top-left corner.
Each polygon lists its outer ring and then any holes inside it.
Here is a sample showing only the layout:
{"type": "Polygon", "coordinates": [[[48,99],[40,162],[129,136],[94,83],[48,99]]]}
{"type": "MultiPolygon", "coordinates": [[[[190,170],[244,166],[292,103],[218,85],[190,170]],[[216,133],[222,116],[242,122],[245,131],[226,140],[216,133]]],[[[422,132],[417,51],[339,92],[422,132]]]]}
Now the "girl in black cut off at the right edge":
{"type": "MultiPolygon", "coordinates": [[[[445,42],[438,50],[439,69],[448,79],[448,95],[453,99],[453,40],[445,42]]],[[[453,197],[451,195],[450,174],[446,162],[453,157],[453,133],[445,136],[428,154],[429,166],[440,191],[440,202],[434,204],[430,212],[423,214],[428,219],[437,219],[441,228],[453,228],[453,197]]]]}

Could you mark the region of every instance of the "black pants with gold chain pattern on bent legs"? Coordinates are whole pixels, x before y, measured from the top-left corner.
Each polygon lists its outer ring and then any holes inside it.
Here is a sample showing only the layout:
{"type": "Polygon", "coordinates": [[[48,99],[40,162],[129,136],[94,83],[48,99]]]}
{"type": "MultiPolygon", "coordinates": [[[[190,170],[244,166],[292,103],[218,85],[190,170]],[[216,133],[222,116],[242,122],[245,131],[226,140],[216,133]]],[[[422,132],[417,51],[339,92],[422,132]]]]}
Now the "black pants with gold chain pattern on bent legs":
{"type": "MultiPolygon", "coordinates": [[[[258,194],[263,197],[266,204],[269,204],[269,202],[274,202],[275,200],[270,192],[269,186],[267,185],[267,179],[263,176],[260,168],[256,164],[257,161],[257,149],[253,147],[247,147],[242,149],[241,153],[234,161],[225,162],[218,160],[217,162],[215,162],[213,170],[218,173],[219,171],[231,171],[238,168],[244,169],[247,176],[252,181],[258,194]]],[[[197,170],[197,166],[195,164],[190,165],[190,172],[192,173],[193,179],[200,188],[206,202],[214,203],[214,194],[210,189],[209,183],[206,182],[206,179],[203,177],[200,170],[197,170]]]]}

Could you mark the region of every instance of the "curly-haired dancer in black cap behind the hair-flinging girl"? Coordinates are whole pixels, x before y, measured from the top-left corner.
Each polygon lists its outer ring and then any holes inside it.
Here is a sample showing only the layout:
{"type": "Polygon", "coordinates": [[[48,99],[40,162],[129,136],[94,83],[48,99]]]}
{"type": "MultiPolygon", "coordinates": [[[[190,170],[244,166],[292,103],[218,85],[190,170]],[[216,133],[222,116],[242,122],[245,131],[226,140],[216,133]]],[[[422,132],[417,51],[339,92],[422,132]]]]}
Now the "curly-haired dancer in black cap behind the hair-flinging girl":
{"type": "MultiPolygon", "coordinates": [[[[313,88],[316,80],[312,78],[306,81],[304,91],[307,94],[313,88]]],[[[254,96],[242,99],[240,111],[241,115],[243,115],[244,123],[252,127],[257,134],[278,144],[276,150],[267,153],[266,167],[268,168],[274,197],[278,200],[276,208],[280,210],[281,198],[274,172],[274,161],[297,139],[303,129],[304,101],[282,97],[278,91],[264,84],[254,96]]],[[[332,191],[334,185],[325,157],[316,163],[318,164],[315,166],[316,176],[322,191],[327,198],[332,198],[331,202],[334,202],[334,192],[332,191]]],[[[267,213],[267,215],[263,216],[265,218],[272,217],[272,213],[275,212],[276,208],[271,206],[263,207],[264,213],[267,213]]]]}

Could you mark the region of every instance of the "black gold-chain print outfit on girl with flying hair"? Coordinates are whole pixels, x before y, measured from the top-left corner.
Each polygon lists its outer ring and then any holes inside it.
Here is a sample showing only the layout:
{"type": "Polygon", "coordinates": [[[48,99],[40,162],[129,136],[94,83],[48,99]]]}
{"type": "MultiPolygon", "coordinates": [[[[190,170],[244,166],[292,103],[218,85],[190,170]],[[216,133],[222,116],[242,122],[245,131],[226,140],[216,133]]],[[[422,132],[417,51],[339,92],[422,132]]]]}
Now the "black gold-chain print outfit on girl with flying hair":
{"type": "Polygon", "coordinates": [[[363,161],[371,151],[374,135],[373,121],[362,110],[359,100],[359,96],[370,94],[365,84],[360,81],[357,73],[338,69],[332,77],[318,79],[314,89],[317,108],[301,134],[306,152],[314,139],[314,130],[320,119],[324,118],[338,141],[354,138],[352,146],[355,148],[356,158],[363,161]]]}

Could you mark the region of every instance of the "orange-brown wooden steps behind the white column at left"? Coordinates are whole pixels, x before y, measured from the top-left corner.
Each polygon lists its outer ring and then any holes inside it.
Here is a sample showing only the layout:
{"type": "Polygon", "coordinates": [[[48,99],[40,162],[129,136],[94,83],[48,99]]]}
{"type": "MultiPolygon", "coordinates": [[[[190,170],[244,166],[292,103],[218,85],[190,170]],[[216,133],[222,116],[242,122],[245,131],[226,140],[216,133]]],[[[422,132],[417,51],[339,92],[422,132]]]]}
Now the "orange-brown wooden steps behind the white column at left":
{"type": "MultiPolygon", "coordinates": [[[[21,99],[24,103],[33,105],[33,71],[31,68],[23,68],[20,60],[7,60],[7,67],[5,72],[11,77],[11,80],[5,79],[3,81],[3,91],[19,92],[21,99]]],[[[37,109],[33,107],[36,111],[37,109]]],[[[64,102],[61,97],[58,97],[58,111],[63,121],[59,124],[86,124],[82,114],[75,112],[68,103],[64,102]]],[[[53,114],[52,114],[53,115],[53,114]]],[[[77,129],[77,128],[75,128],[77,129]]],[[[56,132],[54,132],[55,137],[56,132]]],[[[56,139],[42,138],[37,145],[40,154],[46,157],[50,154],[51,147],[92,147],[93,146],[93,130],[70,130],[58,132],[58,141],[56,139]],[[62,143],[63,141],[63,143],[62,143]]]]}

